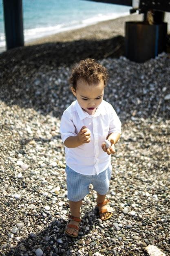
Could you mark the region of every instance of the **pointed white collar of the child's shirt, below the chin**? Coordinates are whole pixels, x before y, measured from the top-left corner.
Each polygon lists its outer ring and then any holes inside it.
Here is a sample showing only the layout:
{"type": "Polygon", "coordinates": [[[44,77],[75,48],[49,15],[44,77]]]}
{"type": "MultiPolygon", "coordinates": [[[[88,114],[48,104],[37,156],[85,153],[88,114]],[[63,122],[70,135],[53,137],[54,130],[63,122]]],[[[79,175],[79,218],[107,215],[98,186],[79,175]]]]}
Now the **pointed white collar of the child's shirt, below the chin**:
{"type": "Polygon", "coordinates": [[[104,106],[103,106],[103,101],[102,103],[100,103],[100,105],[97,107],[97,110],[95,112],[94,115],[88,115],[87,112],[85,112],[84,110],[82,110],[82,108],[79,106],[79,103],[78,101],[76,100],[76,103],[75,103],[75,109],[77,110],[77,113],[79,115],[79,119],[80,120],[83,120],[84,118],[88,117],[88,118],[91,118],[91,117],[98,117],[100,114],[101,115],[105,115],[106,114],[106,111],[104,109],[104,106]]]}

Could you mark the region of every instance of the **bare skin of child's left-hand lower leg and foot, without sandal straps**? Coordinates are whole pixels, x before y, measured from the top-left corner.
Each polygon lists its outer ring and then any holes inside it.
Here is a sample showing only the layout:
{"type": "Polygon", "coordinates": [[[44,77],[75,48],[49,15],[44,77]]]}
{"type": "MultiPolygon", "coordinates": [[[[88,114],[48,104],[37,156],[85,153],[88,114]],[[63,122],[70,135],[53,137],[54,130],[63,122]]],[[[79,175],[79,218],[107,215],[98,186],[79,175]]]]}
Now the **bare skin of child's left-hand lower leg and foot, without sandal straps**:
{"type": "MultiPolygon", "coordinates": [[[[82,205],[82,200],[80,200],[78,202],[69,201],[69,204],[70,204],[71,215],[73,215],[74,217],[79,218],[80,217],[80,207],[82,205]]],[[[71,220],[69,222],[69,224],[78,226],[79,222],[71,220]]],[[[75,231],[74,229],[68,228],[66,230],[69,234],[71,234],[73,236],[77,235],[77,231],[75,231]]]]}

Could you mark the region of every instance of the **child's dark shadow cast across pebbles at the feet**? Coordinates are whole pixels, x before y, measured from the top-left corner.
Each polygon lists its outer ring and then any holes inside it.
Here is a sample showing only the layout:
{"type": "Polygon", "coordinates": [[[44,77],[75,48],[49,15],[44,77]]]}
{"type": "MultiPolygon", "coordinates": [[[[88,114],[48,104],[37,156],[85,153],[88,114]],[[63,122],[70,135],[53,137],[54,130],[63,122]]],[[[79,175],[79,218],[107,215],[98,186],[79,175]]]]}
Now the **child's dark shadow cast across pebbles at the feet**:
{"type": "Polygon", "coordinates": [[[66,236],[64,232],[68,221],[67,216],[62,218],[56,215],[54,220],[48,222],[43,231],[31,233],[27,238],[20,240],[17,246],[12,249],[9,248],[6,256],[26,256],[30,252],[35,255],[34,253],[38,248],[46,255],[50,255],[51,252],[53,252],[52,256],[68,255],[68,251],[76,249],[77,243],[85,243],[83,242],[84,236],[90,234],[96,226],[97,218],[99,218],[96,209],[93,208],[91,208],[91,211],[84,211],[83,215],[77,238],[66,236]]]}

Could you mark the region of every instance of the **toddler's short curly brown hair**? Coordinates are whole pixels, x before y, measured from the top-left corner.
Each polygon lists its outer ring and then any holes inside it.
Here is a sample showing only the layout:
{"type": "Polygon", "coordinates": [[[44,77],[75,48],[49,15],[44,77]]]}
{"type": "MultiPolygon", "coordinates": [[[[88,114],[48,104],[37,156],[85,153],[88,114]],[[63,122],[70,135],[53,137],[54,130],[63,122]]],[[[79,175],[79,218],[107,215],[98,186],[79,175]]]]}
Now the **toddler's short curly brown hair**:
{"type": "Polygon", "coordinates": [[[75,90],[77,88],[77,80],[79,79],[84,79],[88,85],[91,83],[97,85],[99,81],[103,79],[104,85],[106,85],[108,81],[108,71],[106,67],[100,65],[95,59],[86,58],[72,67],[68,82],[75,90]]]}

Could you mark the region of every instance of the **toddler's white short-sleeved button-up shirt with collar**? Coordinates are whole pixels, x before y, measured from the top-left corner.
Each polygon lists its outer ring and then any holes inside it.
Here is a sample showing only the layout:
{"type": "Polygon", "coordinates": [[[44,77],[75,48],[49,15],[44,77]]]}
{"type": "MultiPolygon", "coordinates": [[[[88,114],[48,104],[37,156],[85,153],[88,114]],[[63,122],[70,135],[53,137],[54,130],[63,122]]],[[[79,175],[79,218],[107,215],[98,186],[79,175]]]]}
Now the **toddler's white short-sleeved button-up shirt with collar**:
{"type": "Polygon", "coordinates": [[[102,100],[94,115],[88,115],[78,101],[64,111],[60,132],[64,142],[70,136],[77,136],[82,126],[91,131],[91,141],[76,148],[67,148],[66,165],[77,173],[95,175],[110,165],[111,155],[102,149],[102,143],[111,132],[121,134],[121,122],[110,103],[102,100]]]}

